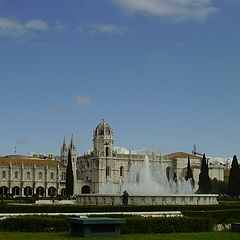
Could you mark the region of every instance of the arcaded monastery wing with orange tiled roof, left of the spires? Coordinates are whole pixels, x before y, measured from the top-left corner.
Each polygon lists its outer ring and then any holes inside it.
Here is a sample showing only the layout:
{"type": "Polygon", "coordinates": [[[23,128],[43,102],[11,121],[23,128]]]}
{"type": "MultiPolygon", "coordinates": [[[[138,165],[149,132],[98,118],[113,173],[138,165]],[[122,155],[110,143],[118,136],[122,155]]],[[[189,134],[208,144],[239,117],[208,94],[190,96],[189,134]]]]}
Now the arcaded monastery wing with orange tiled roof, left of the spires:
{"type": "Polygon", "coordinates": [[[65,166],[56,160],[0,157],[0,196],[56,196],[65,192],[65,166]]]}

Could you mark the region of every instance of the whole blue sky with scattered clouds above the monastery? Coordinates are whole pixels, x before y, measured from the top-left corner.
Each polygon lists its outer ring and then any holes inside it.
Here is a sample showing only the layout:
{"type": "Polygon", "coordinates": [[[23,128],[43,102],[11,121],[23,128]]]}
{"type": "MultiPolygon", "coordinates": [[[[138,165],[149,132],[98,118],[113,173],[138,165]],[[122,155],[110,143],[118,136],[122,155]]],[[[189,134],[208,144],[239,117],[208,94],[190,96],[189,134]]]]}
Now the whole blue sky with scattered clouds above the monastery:
{"type": "Polygon", "coordinates": [[[240,153],[239,0],[0,0],[0,154],[240,153]]]}

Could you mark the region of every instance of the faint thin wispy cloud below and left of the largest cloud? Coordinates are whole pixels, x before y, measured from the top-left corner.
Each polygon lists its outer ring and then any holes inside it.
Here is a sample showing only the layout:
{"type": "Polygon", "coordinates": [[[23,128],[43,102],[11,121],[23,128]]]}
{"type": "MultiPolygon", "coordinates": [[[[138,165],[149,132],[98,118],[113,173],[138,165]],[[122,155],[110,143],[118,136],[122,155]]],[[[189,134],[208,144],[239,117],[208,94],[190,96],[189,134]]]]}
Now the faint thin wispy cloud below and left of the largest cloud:
{"type": "Polygon", "coordinates": [[[108,33],[113,35],[121,35],[127,32],[126,27],[102,23],[84,23],[78,30],[89,34],[108,33]]]}

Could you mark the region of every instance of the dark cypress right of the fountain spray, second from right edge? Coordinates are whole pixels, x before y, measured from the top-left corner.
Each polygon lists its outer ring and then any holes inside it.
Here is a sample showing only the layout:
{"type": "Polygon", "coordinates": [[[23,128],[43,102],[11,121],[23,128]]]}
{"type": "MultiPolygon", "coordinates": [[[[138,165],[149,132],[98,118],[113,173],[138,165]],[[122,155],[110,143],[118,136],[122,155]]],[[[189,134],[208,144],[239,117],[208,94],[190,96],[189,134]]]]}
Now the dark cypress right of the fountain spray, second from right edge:
{"type": "Polygon", "coordinates": [[[206,161],[206,156],[203,154],[201,172],[199,174],[199,188],[198,193],[210,193],[211,192],[211,181],[208,174],[208,163],[206,161]]]}

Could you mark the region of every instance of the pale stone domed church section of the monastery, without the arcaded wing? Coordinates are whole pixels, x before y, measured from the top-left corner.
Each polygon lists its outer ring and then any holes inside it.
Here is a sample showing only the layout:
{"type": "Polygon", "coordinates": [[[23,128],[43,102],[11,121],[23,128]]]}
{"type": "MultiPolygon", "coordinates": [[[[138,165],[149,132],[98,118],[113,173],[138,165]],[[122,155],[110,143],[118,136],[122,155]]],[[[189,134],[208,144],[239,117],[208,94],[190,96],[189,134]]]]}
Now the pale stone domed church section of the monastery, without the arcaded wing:
{"type": "MultiPolygon", "coordinates": [[[[71,140],[72,141],[72,140],[71,140]]],[[[64,144],[62,153],[64,152],[64,144]]],[[[71,145],[71,144],[70,144],[71,145]]],[[[97,194],[100,192],[102,183],[108,181],[114,184],[120,184],[128,175],[129,169],[133,163],[144,161],[145,155],[133,154],[129,151],[128,154],[118,153],[114,150],[113,130],[102,120],[96,129],[93,131],[93,149],[90,153],[77,157],[74,165],[76,182],[74,187],[75,194],[97,194]]],[[[188,157],[190,158],[191,168],[195,184],[198,184],[201,157],[177,152],[161,156],[156,153],[148,155],[151,163],[160,163],[164,169],[168,179],[176,177],[178,180],[186,175],[188,157]]],[[[66,156],[61,155],[63,163],[66,162],[66,156]]],[[[209,166],[210,177],[224,180],[224,166],[213,164],[209,166]]]]}

